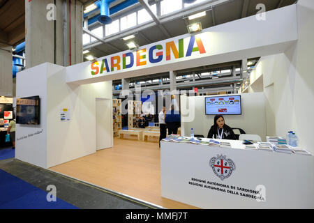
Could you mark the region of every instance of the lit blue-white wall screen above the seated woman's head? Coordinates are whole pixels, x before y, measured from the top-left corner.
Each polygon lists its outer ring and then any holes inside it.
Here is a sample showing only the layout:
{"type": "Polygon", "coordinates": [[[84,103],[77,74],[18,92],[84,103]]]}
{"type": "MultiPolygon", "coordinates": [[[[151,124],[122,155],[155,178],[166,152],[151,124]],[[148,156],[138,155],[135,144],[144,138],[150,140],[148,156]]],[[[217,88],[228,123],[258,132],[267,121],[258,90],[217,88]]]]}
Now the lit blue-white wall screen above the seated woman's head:
{"type": "Polygon", "coordinates": [[[241,114],[241,95],[205,98],[206,114],[241,114]]]}

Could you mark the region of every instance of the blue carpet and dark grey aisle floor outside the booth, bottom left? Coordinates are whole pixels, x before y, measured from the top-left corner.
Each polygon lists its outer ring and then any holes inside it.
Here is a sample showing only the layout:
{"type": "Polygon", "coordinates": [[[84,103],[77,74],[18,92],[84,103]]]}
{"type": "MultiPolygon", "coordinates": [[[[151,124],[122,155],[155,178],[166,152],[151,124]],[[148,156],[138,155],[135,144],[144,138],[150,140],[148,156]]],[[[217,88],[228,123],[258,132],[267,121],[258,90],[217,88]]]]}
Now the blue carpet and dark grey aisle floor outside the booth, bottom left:
{"type": "Polygon", "coordinates": [[[11,158],[0,160],[0,209],[5,208],[156,209],[160,207],[11,158]],[[47,194],[50,192],[47,190],[48,185],[56,187],[57,202],[47,201],[47,194]]]}

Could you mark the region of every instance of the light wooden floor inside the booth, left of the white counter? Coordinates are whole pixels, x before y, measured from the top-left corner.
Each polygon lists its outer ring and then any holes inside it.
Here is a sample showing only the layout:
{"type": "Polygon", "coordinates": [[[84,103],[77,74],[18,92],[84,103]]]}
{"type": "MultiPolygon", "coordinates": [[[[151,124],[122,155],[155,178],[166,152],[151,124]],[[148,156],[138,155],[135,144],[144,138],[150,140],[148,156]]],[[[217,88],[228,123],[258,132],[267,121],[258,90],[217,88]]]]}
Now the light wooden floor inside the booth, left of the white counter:
{"type": "Polygon", "coordinates": [[[195,208],[161,197],[158,139],[135,138],[114,139],[113,148],[50,169],[164,208],[195,208]]]}

